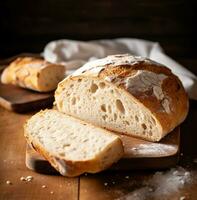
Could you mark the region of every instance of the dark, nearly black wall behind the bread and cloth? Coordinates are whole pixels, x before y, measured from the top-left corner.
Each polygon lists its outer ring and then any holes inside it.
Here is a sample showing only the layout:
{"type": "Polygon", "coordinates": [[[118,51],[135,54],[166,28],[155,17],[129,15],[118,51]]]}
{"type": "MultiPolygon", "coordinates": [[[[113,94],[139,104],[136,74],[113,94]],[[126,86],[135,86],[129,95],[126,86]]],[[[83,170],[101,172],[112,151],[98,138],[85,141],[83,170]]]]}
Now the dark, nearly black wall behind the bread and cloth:
{"type": "Polygon", "coordinates": [[[196,8],[186,0],[1,0],[0,57],[38,53],[55,39],[134,37],[182,61],[197,56],[196,8]]]}

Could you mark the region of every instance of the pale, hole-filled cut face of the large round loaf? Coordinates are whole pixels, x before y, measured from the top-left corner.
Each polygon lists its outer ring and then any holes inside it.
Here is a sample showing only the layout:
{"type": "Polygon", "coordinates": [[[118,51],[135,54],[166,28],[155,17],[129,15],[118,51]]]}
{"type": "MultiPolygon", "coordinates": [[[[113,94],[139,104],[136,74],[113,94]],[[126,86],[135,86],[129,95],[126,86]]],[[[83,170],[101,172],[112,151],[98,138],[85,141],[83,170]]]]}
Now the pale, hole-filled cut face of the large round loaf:
{"type": "Polygon", "coordinates": [[[74,77],[56,93],[59,110],[97,126],[153,141],[162,127],[152,113],[121,88],[98,78],[74,77]]]}

